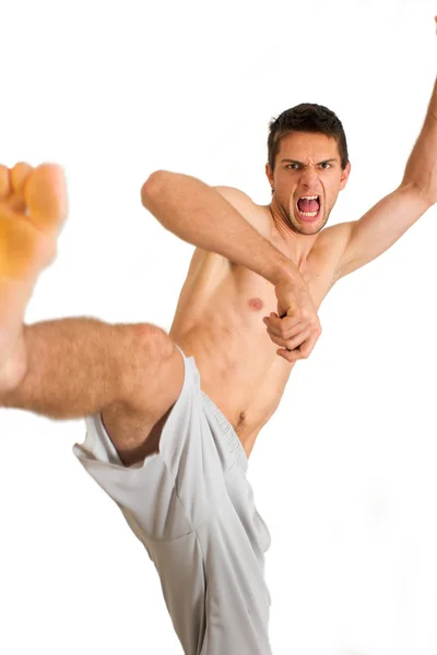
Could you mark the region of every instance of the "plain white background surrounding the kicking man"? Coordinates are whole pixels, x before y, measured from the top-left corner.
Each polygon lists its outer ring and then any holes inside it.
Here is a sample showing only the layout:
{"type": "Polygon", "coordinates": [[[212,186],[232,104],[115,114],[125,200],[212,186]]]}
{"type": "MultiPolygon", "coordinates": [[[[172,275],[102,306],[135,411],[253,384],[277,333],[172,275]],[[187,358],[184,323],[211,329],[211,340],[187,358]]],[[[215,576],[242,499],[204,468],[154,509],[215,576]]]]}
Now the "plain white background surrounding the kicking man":
{"type": "MultiPolygon", "coordinates": [[[[26,322],[168,330],[193,247],[142,209],[141,184],[166,168],[269,202],[268,122],[302,102],[333,109],[349,140],[329,224],[363,215],[399,184],[422,127],[435,13],[430,0],[4,3],[0,157],[62,164],[70,193],[26,322]]],[[[275,655],[437,653],[436,221],[433,207],[331,290],[250,457],[275,655]]],[[[0,432],[0,652],[180,654],[152,562],[71,452],[84,421],[2,409],[0,432]]]]}

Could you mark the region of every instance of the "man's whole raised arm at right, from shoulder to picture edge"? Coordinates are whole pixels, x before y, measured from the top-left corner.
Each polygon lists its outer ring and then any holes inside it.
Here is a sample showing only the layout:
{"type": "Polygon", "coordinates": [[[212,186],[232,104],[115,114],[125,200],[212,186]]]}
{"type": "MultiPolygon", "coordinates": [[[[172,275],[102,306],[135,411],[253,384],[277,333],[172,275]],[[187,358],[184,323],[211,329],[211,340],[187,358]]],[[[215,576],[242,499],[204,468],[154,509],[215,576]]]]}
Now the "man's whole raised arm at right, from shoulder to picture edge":
{"type": "Polygon", "coordinates": [[[436,202],[437,81],[399,188],[358,221],[328,228],[327,236],[342,243],[336,278],[382,254],[436,202]]]}

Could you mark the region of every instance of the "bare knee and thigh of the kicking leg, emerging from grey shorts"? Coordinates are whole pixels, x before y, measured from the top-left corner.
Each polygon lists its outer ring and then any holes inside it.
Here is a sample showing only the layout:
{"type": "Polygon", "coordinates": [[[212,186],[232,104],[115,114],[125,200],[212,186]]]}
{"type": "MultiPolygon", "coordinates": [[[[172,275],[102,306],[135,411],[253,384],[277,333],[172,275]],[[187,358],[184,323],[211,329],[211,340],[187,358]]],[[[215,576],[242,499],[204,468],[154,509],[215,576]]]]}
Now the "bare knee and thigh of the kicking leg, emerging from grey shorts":
{"type": "Polygon", "coordinates": [[[153,325],[135,335],[127,357],[130,397],[104,407],[102,420],[121,462],[130,466],[158,452],[161,432],[184,384],[184,358],[173,340],[153,325]]]}

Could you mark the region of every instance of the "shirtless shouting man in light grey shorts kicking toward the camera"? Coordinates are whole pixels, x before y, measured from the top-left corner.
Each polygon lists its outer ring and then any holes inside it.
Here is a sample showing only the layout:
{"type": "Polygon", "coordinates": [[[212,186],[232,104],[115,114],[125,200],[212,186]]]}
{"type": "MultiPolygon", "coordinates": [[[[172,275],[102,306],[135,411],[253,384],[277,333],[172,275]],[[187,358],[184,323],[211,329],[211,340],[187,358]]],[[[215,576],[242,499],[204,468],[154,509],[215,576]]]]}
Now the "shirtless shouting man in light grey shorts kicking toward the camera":
{"type": "Polygon", "coordinates": [[[320,335],[329,289],[437,202],[437,82],[399,188],[359,221],[324,227],[350,169],[335,115],[300,105],[271,124],[269,205],[152,174],[144,206],[197,246],[169,334],[86,318],[23,324],[67,194],[55,165],[0,169],[0,404],[85,417],[74,452],[147,549],[189,655],[271,653],[270,534],[248,457],[320,335]]]}

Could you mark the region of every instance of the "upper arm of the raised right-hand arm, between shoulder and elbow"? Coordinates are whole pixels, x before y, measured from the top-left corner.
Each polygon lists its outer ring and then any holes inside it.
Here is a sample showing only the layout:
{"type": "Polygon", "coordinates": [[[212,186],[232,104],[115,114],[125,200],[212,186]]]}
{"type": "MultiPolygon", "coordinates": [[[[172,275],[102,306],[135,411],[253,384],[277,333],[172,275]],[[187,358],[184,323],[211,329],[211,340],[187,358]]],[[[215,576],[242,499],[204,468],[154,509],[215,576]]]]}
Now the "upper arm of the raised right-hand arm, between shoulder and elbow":
{"type": "Polygon", "coordinates": [[[400,187],[358,221],[342,224],[338,278],[386,252],[428,209],[429,203],[415,189],[400,187]]]}

